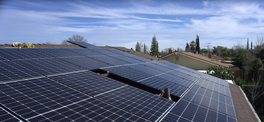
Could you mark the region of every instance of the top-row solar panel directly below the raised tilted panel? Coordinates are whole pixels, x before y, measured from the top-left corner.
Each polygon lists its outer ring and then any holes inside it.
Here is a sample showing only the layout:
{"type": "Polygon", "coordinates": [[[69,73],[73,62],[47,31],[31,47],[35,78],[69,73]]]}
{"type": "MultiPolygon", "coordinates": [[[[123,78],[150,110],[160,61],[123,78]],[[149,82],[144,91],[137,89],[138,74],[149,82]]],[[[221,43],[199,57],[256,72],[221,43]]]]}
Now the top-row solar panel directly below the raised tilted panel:
{"type": "Polygon", "coordinates": [[[78,53],[84,56],[100,56],[100,55],[105,56],[104,54],[97,53],[95,51],[84,49],[84,48],[63,48],[63,49],[66,49],[66,50],[69,50],[69,51],[72,51],[74,53],[78,53]]]}

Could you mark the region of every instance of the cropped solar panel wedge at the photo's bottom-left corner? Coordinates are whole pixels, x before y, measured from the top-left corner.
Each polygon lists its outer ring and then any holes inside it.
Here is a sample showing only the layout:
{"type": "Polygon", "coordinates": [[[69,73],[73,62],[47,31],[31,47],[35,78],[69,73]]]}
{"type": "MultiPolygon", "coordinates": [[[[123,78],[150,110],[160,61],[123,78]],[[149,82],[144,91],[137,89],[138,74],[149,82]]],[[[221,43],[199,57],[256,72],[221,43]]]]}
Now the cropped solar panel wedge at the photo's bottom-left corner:
{"type": "MultiPolygon", "coordinates": [[[[12,114],[8,113],[6,110],[4,110],[2,107],[0,107],[0,121],[21,121],[12,114]]],[[[21,121],[22,122],[22,121],[21,121]]]]}

